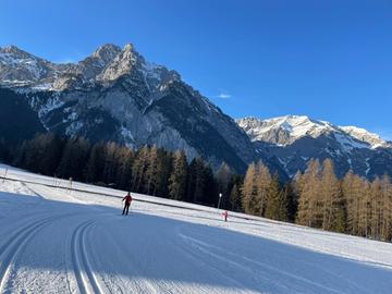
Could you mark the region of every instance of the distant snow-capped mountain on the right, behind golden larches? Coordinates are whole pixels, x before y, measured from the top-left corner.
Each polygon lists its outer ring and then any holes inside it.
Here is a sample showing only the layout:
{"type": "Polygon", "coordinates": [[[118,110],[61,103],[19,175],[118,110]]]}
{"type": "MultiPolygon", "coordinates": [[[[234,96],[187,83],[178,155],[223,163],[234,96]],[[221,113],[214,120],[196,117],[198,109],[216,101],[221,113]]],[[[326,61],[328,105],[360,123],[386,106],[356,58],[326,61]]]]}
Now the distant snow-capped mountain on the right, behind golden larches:
{"type": "Polygon", "coordinates": [[[331,158],[340,176],[350,169],[369,179],[392,175],[392,143],[364,128],[297,115],[236,122],[248,134],[256,152],[280,162],[290,176],[304,171],[311,158],[331,158]]]}

